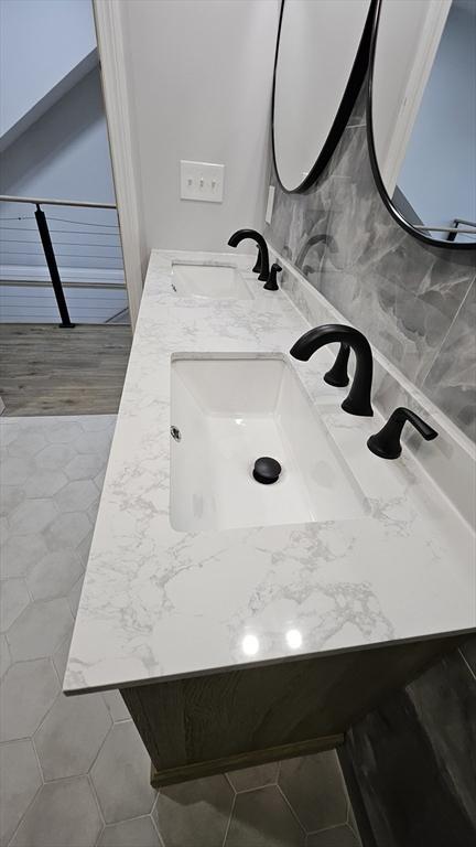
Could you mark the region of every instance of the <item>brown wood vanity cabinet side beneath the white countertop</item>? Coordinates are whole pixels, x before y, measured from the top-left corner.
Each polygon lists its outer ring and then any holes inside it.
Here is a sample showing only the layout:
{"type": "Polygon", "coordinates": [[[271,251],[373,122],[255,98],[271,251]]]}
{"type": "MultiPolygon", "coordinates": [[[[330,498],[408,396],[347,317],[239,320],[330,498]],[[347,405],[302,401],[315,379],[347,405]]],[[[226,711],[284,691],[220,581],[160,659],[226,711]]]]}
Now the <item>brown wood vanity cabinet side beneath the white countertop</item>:
{"type": "Polygon", "coordinates": [[[338,747],[344,733],[463,636],[393,643],[122,688],[151,783],[193,780],[338,747]]]}

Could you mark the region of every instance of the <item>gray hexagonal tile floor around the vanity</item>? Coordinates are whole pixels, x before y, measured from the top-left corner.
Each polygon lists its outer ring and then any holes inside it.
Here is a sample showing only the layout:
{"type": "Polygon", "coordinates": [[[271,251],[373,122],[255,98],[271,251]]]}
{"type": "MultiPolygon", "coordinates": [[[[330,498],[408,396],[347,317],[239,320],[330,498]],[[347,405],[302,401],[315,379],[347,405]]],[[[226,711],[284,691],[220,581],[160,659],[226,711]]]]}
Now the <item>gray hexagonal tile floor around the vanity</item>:
{"type": "Polygon", "coordinates": [[[62,694],[113,425],[0,419],[0,847],[357,847],[334,752],[158,794],[120,695],[62,694]]]}

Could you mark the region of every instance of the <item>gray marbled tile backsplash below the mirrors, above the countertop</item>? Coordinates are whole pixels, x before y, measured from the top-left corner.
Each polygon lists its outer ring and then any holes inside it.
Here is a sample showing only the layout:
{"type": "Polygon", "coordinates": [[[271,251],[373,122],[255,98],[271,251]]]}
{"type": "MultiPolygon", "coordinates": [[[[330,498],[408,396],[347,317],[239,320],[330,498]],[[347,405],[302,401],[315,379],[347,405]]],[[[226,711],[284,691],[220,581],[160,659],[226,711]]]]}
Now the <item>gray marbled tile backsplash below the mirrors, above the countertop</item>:
{"type": "Polygon", "coordinates": [[[365,87],[317,184],[272,173],[266,236],[371,343],[476,440],[476,249],[445,250],[390,216],[370,168],[365,87]]]}

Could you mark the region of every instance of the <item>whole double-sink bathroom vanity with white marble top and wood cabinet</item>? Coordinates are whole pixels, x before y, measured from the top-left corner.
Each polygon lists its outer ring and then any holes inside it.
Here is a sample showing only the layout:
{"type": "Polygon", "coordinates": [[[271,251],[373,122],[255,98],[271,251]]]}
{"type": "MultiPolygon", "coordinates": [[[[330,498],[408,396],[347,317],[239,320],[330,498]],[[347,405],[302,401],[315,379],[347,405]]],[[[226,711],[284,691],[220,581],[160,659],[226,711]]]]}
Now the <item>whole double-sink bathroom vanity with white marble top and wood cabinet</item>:
{"type": "Polygon", "coordinates": [[[469,442],[375,351],[343,411],[336,350],[289,351],[347,322],[278,260],[150,259],[64,690],[121,690],[154,786],[334,748],[476,629],[469,442]],[[376,457],[409,403],[439,438],[376,457]]]}

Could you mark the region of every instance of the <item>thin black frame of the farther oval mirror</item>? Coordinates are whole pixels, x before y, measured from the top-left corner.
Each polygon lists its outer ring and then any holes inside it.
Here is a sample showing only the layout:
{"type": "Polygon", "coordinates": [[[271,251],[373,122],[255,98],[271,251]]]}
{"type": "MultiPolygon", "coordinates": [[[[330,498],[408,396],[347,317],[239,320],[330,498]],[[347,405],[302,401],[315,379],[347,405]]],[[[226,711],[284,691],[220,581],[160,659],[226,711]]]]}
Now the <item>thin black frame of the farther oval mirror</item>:
{"type": "Polygon", "coordinates": [[[357,50],[356,57],[354,60],[354,65],[350,71],[350,75],[344,92],[344,96],[340,100],[340,106],[337,109],[337,114],[334,118],[334,122],[329,129],[329,132],[327,135],[327,138],[324,142],[324,146],[314,162],[313,167],[311,168],[307,176],[302,181],[300,185],[298,185],[295,189],[286,189],[285,185],[282,184],[281,178],[279,174],[278,163],[277,163],[277,156],[275,156],[275,146],[274,146],[274,99],[275,99],[275,81],[277,81],[277,67],[278,67],[278,56],[279,56],[279,45],[280,45],[280,36],[281,36],[281,28],[282,28],[282,21],[283,21],[283,12],[284,12],[284,6],[285,0],[281,0],[281,9],[280,9],[280,19],[279,19],[279,25],[278,25],[278,37],[277,37],[277,49],[274,54],[274,71],[273,71],[273,85],[272,85],[272,100],[271,100],[271,146],[272,146],[272,157],[273,157],[273,164],[274,164],[274,171],[278,179],[278,182],[280,184],[281,190],[285,194],[303,194],[304,192],[309,191],[312,185],[317,181],[321,173],[323,172],[324,168],[328,163],[332,154],[334,153],[334,150],[337,147],[337,143],[340,140],[340,137],[344,132],[344,129],[347,126],[348,119],[350,117],[351,110],[355,106],[356,99],[358,97],[358,94],[360,92],[360,88],[364,84],[367,69],[369,67],[369,61],[370,61],[370,44],[371,44],[371,36],[374,31],[374,22],[375,22],[375,7],[377,4],[378,0],[370,0],[369,4],[369,11],[367,15],[367,20],[364,26],[364,32],[360,39],[360,43],[357,50]]]}

